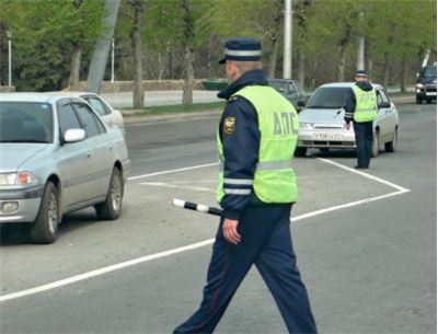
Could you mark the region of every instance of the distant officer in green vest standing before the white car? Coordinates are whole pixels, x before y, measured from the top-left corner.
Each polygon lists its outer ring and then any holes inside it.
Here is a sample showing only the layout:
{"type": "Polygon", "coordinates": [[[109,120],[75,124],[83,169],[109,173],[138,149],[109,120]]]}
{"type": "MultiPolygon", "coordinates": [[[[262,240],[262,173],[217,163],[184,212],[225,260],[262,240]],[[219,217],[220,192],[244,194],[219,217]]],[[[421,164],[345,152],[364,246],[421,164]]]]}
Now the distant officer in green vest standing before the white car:
{"type": "Polygon", "coordinates": [[[368,82],[367,72],[358,70],[355,74],[356,83],[345,104],[345,123],[347,128],[355,129],[357,147],[356,169],[368,169],[372,152],[372,122],[377,119],[376,90],[368,82]]]}

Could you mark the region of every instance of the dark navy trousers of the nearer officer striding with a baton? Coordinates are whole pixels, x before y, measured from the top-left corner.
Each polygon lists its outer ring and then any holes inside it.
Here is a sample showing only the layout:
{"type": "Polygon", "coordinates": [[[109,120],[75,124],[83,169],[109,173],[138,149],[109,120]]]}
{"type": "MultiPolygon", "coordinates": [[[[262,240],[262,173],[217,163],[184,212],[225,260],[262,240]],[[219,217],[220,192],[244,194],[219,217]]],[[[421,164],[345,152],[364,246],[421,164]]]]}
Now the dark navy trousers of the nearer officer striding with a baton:
{"type": "Polygon", "coordinates": [[[174,333],[212,333],[253,264],[273,293],[289,333],[316,333],[292,250],[290,210],[290,205],[247,207],[239,221],[242,239],[238,245],[223,238],[221,220],[200,308],[174,333]]]}

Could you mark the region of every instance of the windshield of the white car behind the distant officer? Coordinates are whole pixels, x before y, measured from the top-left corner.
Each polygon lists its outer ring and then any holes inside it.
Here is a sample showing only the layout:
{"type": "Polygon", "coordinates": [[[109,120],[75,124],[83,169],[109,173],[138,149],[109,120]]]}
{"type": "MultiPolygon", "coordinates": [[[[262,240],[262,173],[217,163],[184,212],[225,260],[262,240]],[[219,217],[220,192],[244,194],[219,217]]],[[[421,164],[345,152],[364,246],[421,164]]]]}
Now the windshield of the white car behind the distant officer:
{"type": "Polygon", "coordinates": [[[345,105],[349,87],[322,87],[319,88],[310,99],[308,108],[341,108],[345,105]]]}

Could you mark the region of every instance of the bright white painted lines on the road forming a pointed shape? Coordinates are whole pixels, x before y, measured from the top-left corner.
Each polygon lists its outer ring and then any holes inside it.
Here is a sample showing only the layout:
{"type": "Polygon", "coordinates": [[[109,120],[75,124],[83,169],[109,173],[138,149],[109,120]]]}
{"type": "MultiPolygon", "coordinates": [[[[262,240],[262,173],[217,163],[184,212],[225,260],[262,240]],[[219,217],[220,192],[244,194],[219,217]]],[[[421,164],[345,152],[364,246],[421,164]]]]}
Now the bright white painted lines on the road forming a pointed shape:
{"type": "MultiPolygon", "coordinates": [[[[401,195],[401,194],[410,192],[410,189],[407,189],[405,187],[402,187],[402,186],[396,185],[396,184],[394,184],[392,182],[382,180],[380,177],[370,175],[368,173],[365,173],[365,172],[361,172],[361,171],[357,171],[355,169],[345,166],[343,164],[339,164],[337,162],[334,162],[334,161],[331,161],[331,160],[327,160],[327,159],[322,159],[322,158],[318,158],[318,159],[320,161],[323,161],[325,163],[330,163],[332,165],[335,165],[335,166],[341,168],[343,170],[346,170],[348,172],[356,173],[356,174],[361,175],[364,177],[367,177],[367,178],[373,180],[376,182],[385,184],[385,185],[388,185],[390,187],[395,188],[396,192],[392,192],[392,193],[389,193],[389,194],[385,194],[385,195],[381,195],[381,196],[370,197],[370,198],[366,198],[366,199],[361,199],[361,200],[347,203],[347,204],[344,204],[344,205],[333,206],[333,207],[330,207],[330,208],[325,208],[325,209],[308,212],[308,214],[291,218],[291,221],[299,221],[299,220],[303,220],[303,219],[307,219],[307,218],[311,218],[311,217],[315,217],[315,216],[319,216],[319,215],[323,215],[323,214],[326,214],[326,212],[331,212],[331,211],[334,211],[334,210],[349,208],[349,207],[358,206],[358,205],[361,205],[361,204],[368,204],[368,203],[372,203],[372,201],[376,201],[376,200],[379,200],[379,199],[384,199],[384,198],[388,198],[388,197],[392,197],[392,196],[396,196],[396,195],[401,195]]],[[[191,168],[184,168],[184,169],[177,169],[177,170],[171,170],[171,171],[163,171],[163,172],[158,172],[158,173],[145,174],[145,175],[130,177],[130,180],[136,180],[136,178],[141,178],[141,177],[150,177],[150,176],[155,176],[155,175],[161,175],[161,174],[169,174],[169,173],[174,173],[174,172],[188,171],[188,170],[194,170],[194,169],[212,166],[212,165],[217,165],[217,164],[218,163],[209,163],[209,164],[201,164],[201,165],[196,165],[196,166],[191,166],[191,168]]],[[[122,268],[134,266],[134,265],[137,265],[137,264],[140,264],[140,263],[143,263],[143,262],[149,262],[149,261],[157,260],[157,258],[160,258],[160,257],[165,257],[165,256],[170,256],[170,255],[173,255],[173,254],[177,254],[177,253],[195,250],[195,249],[198,249],[198,247],[203,247],[203,246],[209,245],[209,244],[211,244],[214,242],[215,242],[215,239],[207,239],[207,240],[204,240],[204,241],[200,241],[200,242],[197,242],[197,243],[193,243],[193,244],[189,244],[189,245],[185,245],[185,246],[182,246],[182,247],[177,247],[177,249],[173,249],[173,250],[169,250],[169,251],[164,251],[164,252],[160,252],[160,253],[155,253],[155,254],[151,254],[151,255],[146,255],[146,256],[134,258],[134,260],[130,260],[130,261],[126,261],[126,262],[123,262],[123,263],[119,263],[119,264],[115,264],[115,265],[111,265],[111,266],[107,266],[107,267],[103,267],[103,268],[100,268],[100,269],[96,269],[96,270],[88,272],[88,273],[84,273],[84,274],[81,274],[81,275],[76,275],[76,276],[72,276],[72,277],[69,277],[69,278],[66,278],[66,279],[61,279],[61,280],[57,280],[57,281],[49,283],[49,284],[46,284],[46,285],[42,285],[39,287],[35,287],[35,288],[32,288],[32,289],[22,290],[22,291],[9,293],[9,295],[3,295],[3,296],[0,296],[0,302],[7,301],[7,300],[16,299],[16,298],[21,298],[21,297],[25,297],[25,296],[31,296],[31,295],[43,292],[43,291],[47,291],[47,290],[51,290],[51,289],[59,288],[59,287],[62,287],[62,286],[67,286],[67,285],[70,285],[70,284],[73,284],[73,283],[77,283],[77,281],[80,281],[80,280],[84,280],[84,279],[96,277],[96,276],[100,276],[100,275],[103,275],[103,274],[107,274],[107,273],[111,273],[111,272],[114,272],[114,270],[118,270],[118,269],[122,269],[122,268]]]]}

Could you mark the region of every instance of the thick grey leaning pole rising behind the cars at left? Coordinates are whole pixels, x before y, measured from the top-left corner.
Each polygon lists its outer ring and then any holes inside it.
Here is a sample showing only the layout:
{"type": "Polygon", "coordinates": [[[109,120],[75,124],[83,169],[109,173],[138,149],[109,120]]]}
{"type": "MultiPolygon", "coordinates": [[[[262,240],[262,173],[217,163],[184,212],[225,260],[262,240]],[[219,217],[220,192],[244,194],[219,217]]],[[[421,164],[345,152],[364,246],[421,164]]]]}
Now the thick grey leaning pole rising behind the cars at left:
{"type": "Polygon", "coordinates": [[[102,36],[97,38],[94,46],[90,71],[87,78],[88,92],[96,94],[101,92],[119,4],[120,0],[105,0],[105,13],[107,13],[107,15],[103,19],[103,24],[106,28],[102,36]]]}

